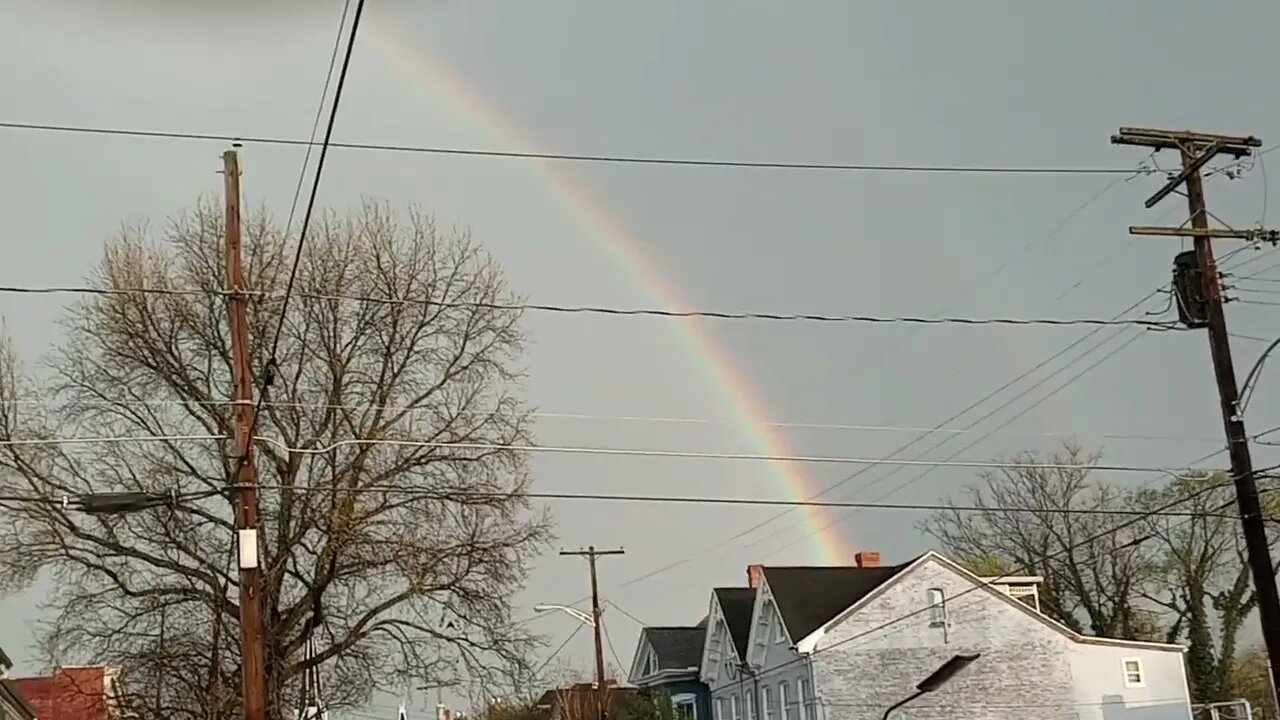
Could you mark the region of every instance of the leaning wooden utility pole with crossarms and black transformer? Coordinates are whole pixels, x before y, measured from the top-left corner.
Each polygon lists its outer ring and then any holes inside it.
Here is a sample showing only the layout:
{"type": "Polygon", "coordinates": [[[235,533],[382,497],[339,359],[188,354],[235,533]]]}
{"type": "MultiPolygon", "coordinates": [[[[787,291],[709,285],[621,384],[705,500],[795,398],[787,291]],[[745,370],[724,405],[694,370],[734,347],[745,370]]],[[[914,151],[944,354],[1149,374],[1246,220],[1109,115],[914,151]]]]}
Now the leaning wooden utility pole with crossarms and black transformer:
{"type": "Polygon", "coordinates": [[[1146,206],[1148,209],[1155,206],[1175,192],[1179,186],[1185,184],[1190,228],[1132,227],[1129,232],[1133,234],[1190,236],[1196,241],[1194,258],[1188,252],[1175,260],[1174,293],[1184,324],[1208,329],[1210,355],[1213,360],[1213,375],[1217,380],[1217,393],[1222,410],[1222,427],[1226,430],[1228,452],[1231,459],[1231,482],[1235,484],[1235,501],[1240,511],[1244,546],[1253,575],[1253,589],[1258,598],[1262,639],[1266,643],[1271,666],[1271,692],[1275,694],[1276,688],[1280,688],[1280,593],[1276,592],[1266,520],[1262,516],[1262,503],[1258,500],[1253,459],[1249,456],[1249,438],[1244,432],[1244,418],[1240,415],[1240,389],[1235,382],[1235,365],[1231,363],[1230,336],[1226,333],[1226,315],[1222,313],[1222,286],[1219,279],[1217,263],[1213,260],[1212,243],[1213,237],[1253,240],[1254,233],[1208,227],[1208,210],[1204,206],[1204,187],[1201,178],[1201,169],[1213,158],[1219,155],[1244,158],[1261,147],[1262,141],[1252,136],[1120,128],[1120,132],[1111,136],[1111,142],[1155,150],[1176,150],[1181,155],[1181,172],[1171,177],[1164,187],[1152,195],[1146,206]]]}

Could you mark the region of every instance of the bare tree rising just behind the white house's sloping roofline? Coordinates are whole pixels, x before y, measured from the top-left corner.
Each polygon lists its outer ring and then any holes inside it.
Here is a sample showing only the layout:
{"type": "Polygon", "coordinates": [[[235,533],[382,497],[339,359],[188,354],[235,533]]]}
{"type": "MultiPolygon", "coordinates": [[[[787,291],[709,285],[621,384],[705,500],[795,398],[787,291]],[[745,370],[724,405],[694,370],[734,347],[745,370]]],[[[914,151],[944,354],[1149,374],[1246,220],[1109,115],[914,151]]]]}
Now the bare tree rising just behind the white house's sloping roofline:
{"type": "Polygon", "coordinates": [[[1110,512],[1123,493],[1091,479],[1087,466],[1100,459],[1074,441],[1050,457],[1023,452],[965,488],[960,505],[978,511],[948,502],[922,529],[961,562],[1042,575],[1041,607],[1069,628],[1149,639],[1151,612],[1142,603],[1149,564],[1133,529],[1111,529],[1123,520],[1110,512]]]}

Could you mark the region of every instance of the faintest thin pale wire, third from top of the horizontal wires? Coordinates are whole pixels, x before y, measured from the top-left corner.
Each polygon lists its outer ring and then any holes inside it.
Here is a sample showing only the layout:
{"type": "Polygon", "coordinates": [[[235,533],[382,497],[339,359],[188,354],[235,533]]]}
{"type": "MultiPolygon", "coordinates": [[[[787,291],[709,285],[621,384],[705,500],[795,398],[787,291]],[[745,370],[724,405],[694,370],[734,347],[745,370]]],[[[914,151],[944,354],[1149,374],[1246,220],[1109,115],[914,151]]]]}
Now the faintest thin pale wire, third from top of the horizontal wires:
{"type": "MultiPolygon", "coordinates": [[[[59,409],[59,410],[90,410],[90,409],[114,409],[114,407],[233,407],[236,401],[229,398],[221,400],[132,400],[132,398],[106,398],[106,400],[60,400],[56,397],[38,397],[38,398],[23,398],[23,400],[0,400],[0,407],[14,406],[14,407],[45,407],[45,409],[59,409]]],[[[339,402],[276,402],[265,401],[264,407],[275,409],[293,409],[293,410],[347,410],[347,411],[374,411],[374,413],[404,413],[412,414],[417,411],[433,410],[429,405],[371,405],[371,404],[339,404],[339,402]]],[[[503,418],[502,411],[468,411],[458,413],[458,416],[466,418],[503,418]]],[[[517,415],[512,414],[511,418],[517,415]]],[[[618,423],[649,423],[649,424],[673,424],[673,425],[708,425],[708,427],[730,427],[735,423],[730,420],[718,420],[713,418],[694,418],[694,416],[677,416],[677,415],[598,415],[590,413],[553,413],[535,410],[526,414],[518,414],[520,418],[538,418],[548,420],[589,420],[593,423],[599,421],[618,421],[618,423]]],[[[769,428],[790,428],[790,429],[818,429],[818,430],[858,430],[858,432],[888,432],[888,433],[936,433],[936,434],[972,434],[974,428],[951,428],[951,427],[923,427],[923,425],[878,425],[878,424],[859,424],[859,423],[817,423],[817,421],[794,421],[794,420],[765,420],[760,423],[762,425],[769,428]]],[[[1009,432],[1009,433],[992,433],[1005,437],[1023,437],[1023,438],[1073,438],[1079,433],[1068,432],[1009,432]]],[[[1197,437],[1197,436],[1160,436],[1160,434],[1134,434],[1134,433],[1093,433],[1096,437],[1102,439],[1115,439],[1115,441],[1134,441],[1134,442],[1219,442],[1215,437],[1197,437]]]]}

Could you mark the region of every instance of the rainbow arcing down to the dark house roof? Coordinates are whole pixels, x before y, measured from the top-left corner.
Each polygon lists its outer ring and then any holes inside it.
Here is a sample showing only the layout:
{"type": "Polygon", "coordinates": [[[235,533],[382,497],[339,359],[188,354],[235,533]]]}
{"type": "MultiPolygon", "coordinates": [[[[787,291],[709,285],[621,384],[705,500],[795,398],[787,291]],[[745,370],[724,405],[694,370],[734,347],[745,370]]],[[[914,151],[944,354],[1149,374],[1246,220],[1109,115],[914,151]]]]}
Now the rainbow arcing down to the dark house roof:
{"type": "MultiPolygon", "coordinates": [[[[471,123],[503,143],[504,149],[540,151],[536,140],[520,132],[504,115],[484,97],[472,91],[456,72],[431,56],[426,47],[410,46],[393,33],[374,23],[361,27],[399,72],[411,74],[430,87],[434,97],[444,99],[452,110],[462,113],[471,123]]],[[[566,163],[538,161],[548,188],[567,205],[567,209],[591,234],[609,250],[620,269],[631,275],[653,300],[669,309],[687,307],[677,288],[666,279],[662,269],[645,256],[643,246],[630,236],[622,223],[596,201],[590,191],[564,170],[566,163]]],[[[768,414],[760,400],[751,392],[750,382],[733,366],[728,355],[717,346],[704,323],[696,318],[681,318],[672,323],[689,354],[698,360],[722,401],[733,415],[733,425],[762,455],[795,455],[786,436],[768,424],[768,414]]],[[[773,461],[772,471],[782,492],[792,500],[806,500],[818,492],[813,480],[796,462],[773,461]]],[[[844,546],[836,525],[824,521],[820,509],[799,507],[806,534],[812,541],[814,561],[838,565],[851,557],[844,546]]]]}

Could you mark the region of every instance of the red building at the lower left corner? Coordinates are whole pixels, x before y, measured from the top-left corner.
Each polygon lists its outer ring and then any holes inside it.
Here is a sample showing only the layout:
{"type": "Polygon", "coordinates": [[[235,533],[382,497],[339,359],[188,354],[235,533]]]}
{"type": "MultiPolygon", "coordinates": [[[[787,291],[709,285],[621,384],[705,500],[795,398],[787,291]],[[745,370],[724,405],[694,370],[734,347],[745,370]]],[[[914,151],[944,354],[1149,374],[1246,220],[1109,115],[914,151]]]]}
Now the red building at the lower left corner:
{"type": "Polygon", "coordinates": [[[40,720],[114,720],[118,679],[114,667],[65,666],[49,676],[15,678],[13,684],[40,720]]]}

